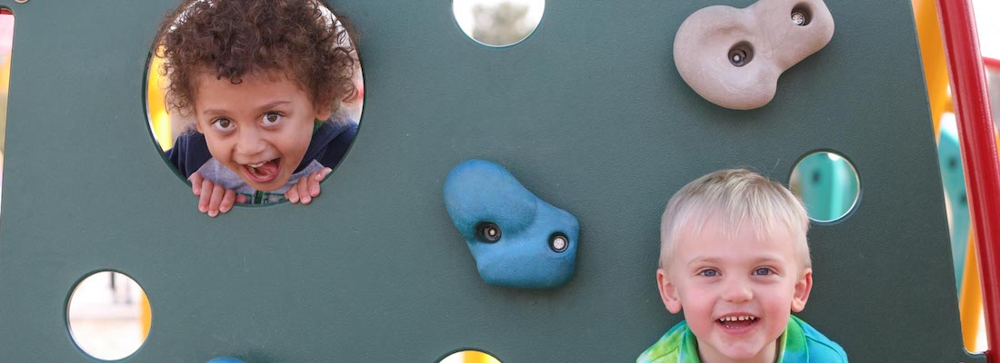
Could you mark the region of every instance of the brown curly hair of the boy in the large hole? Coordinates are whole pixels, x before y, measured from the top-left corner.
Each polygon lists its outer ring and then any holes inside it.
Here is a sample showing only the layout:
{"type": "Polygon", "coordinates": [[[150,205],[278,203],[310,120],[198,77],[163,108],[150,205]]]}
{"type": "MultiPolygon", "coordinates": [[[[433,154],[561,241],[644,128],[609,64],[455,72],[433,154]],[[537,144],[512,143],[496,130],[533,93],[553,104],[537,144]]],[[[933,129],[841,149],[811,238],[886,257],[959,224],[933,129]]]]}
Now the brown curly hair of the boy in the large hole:
{"type": "Polygon", "coordinates": [[[331,111],[353,101],[354,39],[347,20],[327,10],[320,0],[184,1],[160,24],[154,47],[170,80],[169,108],[191,114],[194,79],[204,72],[234,85],[247,74],[283,72],[331,111]]]}

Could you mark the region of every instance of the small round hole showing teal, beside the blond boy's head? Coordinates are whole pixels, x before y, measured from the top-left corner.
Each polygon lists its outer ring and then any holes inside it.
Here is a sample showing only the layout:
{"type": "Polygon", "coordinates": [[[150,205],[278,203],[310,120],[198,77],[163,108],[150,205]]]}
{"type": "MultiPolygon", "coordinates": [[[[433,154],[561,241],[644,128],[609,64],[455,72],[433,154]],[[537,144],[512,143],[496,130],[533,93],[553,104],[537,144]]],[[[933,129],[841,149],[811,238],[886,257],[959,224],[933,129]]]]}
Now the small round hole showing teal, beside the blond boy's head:
{"type": "Polygon", "coordinates": [[[819,222],[843,218],[861,196],[857,170],[832,152],[812,153],[799,160],[788,183],[802,198],[809,218],[819,222]]]}

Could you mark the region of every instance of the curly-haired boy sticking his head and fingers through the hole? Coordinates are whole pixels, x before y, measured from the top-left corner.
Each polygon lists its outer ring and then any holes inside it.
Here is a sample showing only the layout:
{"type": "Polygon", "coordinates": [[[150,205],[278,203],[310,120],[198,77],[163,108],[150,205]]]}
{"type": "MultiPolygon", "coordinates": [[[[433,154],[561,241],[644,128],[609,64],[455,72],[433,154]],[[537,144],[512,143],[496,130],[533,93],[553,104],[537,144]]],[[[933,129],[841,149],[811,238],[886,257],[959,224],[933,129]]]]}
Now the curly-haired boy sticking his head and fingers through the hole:
{"type": "Polygon", "coordinates": [[[317,0],[187,0],[156,36],[171,111],[194,128],[166,152],[198,209],[307,204],[347,152],[357,122],[351,39],[317,0]]]}

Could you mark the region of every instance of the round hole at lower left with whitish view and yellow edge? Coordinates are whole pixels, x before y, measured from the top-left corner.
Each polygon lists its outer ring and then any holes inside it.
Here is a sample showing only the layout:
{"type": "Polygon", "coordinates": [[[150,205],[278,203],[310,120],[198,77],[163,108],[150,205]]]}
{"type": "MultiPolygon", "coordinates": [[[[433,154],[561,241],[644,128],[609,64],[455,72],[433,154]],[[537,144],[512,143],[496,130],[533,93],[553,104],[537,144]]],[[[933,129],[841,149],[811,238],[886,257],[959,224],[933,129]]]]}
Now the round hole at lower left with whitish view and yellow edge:
{"type": "Polygon", "coordinates": [[[121,272],[93,273],[73,287],[66,305],[73,342],[97,359],[132,355],[146,341],[152,309],[146,293],[121,272]]]}

